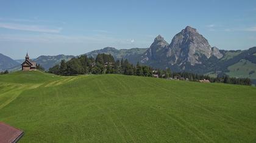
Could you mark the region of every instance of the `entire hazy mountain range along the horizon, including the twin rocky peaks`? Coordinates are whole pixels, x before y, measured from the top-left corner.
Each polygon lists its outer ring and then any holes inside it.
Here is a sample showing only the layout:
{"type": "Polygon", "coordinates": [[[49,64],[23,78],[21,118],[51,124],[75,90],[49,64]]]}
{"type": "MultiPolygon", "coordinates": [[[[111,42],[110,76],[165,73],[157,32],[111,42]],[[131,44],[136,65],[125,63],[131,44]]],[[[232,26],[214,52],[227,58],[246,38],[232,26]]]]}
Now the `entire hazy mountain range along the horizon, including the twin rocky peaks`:
{"type": "MultiPolygon", "coordinates": [[[[131,48],[118,50],[106,47],[85,53],[95,57],[99,53],[108,53],[115,59],[128,59],[133,64],[150,65],[154,68],[171,68],[172,71],[189,71],[211,76],[227,74],[237,78],[256,80],[256,47],[248,50],[219,50],[212,47],[195,28],[185,27],[168,43],[158,35],[149,48],[131,48]]],[[[74,56],[39,56],[34,59],[44,68],[59,64],[62,59],[68,61],[74,56]]],[[[0,55],[0,70],[20,66],[7,56],[0,55]]],[[[19,62],[22,62],[19,61],[19,62]]]]}

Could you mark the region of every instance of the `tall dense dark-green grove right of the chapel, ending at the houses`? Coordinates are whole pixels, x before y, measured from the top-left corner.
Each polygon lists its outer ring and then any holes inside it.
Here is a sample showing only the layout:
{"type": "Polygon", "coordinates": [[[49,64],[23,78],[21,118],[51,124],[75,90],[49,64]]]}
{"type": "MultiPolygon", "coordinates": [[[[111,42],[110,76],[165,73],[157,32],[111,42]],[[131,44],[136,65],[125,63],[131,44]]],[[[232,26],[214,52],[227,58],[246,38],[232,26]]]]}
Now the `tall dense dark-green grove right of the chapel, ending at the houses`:
{"type": "Polygon", "coordinates": [[[152,68],[137,64],[130,64],[127,59],[116,60],[112,55],[99,54],[96,58],[88,58],[86,55],[73,58],[69,61],[62,60],[60,65],[49,68],[49,73],[56,75],[84,75],[115,73],[124,75],[152,76],[152,68]]]}

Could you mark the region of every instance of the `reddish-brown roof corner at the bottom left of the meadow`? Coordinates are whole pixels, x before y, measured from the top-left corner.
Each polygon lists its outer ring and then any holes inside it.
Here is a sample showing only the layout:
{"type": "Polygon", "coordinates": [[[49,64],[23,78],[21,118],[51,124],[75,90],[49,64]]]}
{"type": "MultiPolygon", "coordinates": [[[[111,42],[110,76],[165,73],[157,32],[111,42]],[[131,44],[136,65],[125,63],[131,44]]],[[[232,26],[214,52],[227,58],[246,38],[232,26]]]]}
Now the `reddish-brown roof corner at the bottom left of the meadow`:
{"type": "Polygon", "coordinates": [[[0,122],[0,142],[18,142],[23,135],[22,130],[0,122]]]}

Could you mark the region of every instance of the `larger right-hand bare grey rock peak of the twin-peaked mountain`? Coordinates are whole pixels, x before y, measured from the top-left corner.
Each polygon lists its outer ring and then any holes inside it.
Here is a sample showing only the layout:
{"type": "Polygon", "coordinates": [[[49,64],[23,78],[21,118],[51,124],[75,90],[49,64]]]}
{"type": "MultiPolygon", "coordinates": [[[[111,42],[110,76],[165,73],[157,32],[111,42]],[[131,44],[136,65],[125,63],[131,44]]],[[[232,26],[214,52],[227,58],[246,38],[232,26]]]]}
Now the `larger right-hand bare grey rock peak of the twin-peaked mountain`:
{"type": "Polygon", "coordinates": [[[187,26],[180,33],[174,36],[168,47],[167,57],[171,59],[171,64],[191,65],[202,64],[202,57],[207,59],[210,56],[221,58],[218,48],[212,48],[204,36],[200,35],[195,28],[187,26]]]}

